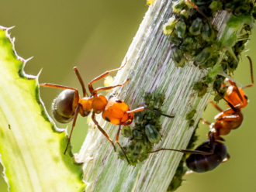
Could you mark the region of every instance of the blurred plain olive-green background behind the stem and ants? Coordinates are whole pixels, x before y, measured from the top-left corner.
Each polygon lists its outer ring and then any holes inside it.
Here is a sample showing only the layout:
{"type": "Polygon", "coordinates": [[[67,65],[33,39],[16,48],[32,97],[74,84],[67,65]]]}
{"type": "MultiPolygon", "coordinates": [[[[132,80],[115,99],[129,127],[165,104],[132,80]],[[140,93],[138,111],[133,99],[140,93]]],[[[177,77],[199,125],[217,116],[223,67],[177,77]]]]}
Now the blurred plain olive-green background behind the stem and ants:
{"type": "MultiPolygon", "coordinates": [[[[11,33],[12,37],[16,37],[17,53],[25,59],[33,57],[33,60],[26,63],[26,74],[36,75],[43,68],[40,83],[64,84],[78,87],[81,91],[72,68],[77,66],[83,80],[88,83],[102,72],[119,67],[145,12],[146,0],[5,0],[1,3],[0,25],[16,26],[11,33]]],[[[250,50],[246,54],[255,61],[256,78],[256,31],[247,48],[250,50]]],[[[249,63],[244,55],[234,77],[242,84],[250,84],[249,63]]],[[[102,81],[95,83],[95,87],[102,84],[102,81]]],[[[250,103],[243,109],[244,123],[240,129],[225,137],[230,161],[209,173],[189,174],[178,192],[256,191],[256,87],[245,91],[250,103]]],[[[57,89],[40,89],[49,112],[51,102],[59,93],[57,89]]],[[[224,104],[222,106],[227,108],[224,104]]],[[[203,118],[213,122],[217,113],[215,108],[209,106],[203,118]]],[[[200,125],[198,144],[206,140],[208,131],[206,125],[200,125]]],[[[86,132],[86,118],[79,117],[71,140],[74,152],[78,152],[86,132]]],[[[5,191],[7,185],[0,177],[0,192],[5,191]]]]}

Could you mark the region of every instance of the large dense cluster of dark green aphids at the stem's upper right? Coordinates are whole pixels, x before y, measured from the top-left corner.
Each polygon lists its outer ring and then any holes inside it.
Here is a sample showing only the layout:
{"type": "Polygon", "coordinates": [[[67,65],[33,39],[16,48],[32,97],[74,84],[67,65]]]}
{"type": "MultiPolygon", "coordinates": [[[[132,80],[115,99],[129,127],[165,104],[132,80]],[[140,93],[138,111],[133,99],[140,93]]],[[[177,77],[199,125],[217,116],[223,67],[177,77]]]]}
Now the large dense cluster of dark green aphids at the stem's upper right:
{"type": "MultiPolygon", "coordinates": [[[[177,67],[184,67],[185,60],[192,60],[194,65],[200,68],[214,67],[220,58],[220,50],[227,50],[226,57],[223,57],[220,63],[223,73],[230,74],[237,69],[240,53],[251,33],[251,26],[244,24],[240,35],[220,42],[216,39],[218,31],[211,21],[216,12],[226,10],[234,15],[230,25],[239,22],[239,17],[242,17],[240,22],[243,22],[244,15],[256,15],[254,2],[178,0],[172,9],[174,15],[164,24],[163,31],[165,35],[169,35],[173,45],[172,59],[177,67]]],[[[227,92],[227,87],[222,86],[224,80],[225,77],[220,75],[216,78],[206,76],[196,83],[193,89],[202,97],[208,91],[209,84],[213,83],[213,90],[217,92],[214,101],[220,101],[227,92]]]]}

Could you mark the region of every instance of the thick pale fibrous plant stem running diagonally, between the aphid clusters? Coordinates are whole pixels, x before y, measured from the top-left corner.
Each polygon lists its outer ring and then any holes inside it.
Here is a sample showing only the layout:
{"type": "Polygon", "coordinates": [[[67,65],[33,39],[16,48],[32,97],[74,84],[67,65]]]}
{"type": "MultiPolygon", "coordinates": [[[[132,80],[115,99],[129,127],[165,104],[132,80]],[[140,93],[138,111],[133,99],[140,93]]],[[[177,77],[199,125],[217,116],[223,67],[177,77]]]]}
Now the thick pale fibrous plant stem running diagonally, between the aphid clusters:
{"type": "MultiPolygon", "coordinates": [[[[162,111],[175,115],[175,118],[161,117],[163,137],[154,149],[186,148],[213,89],[209,87],[203,98],[198,98],[192,87],[206,76],[208,70],[199,69],[192,62],[186,63],[183,68],[175,67],[171,60],[171,43],[162,32],[164,22],[172,15],[171,5],[172,1],[164,0],[157,0],[154,5],[150,5],[126,53],[128,63],[118,72],[114,81],[114,84],[120,84],[130,78],[128,84],[114,90],[130,109],[143,105],[145,92],[165,95],[162,111]],[[189,128],[185,117],[192,109],[197,112],[194,127],[189,128]]],[[[227,12],[218,15],[213,23],[223,33],[223,23],[229,17],[227,12]]],[[[110,138],[115,139],[118,126],[105,122],[101,117],[99,119],[99,125],[110,138]]],[[[123,146],[128,142],[122,135],[119,141],[123,146]]],[[[132,191],[133,188],[134,191],[166,191],[181,158],[182,153],[161,151],[150,154],[144,163],[129,166],[126,161],[117,159],[117,153],[97,129],[88,131],[77,155],[78,162],[84,163],[84,181],[88,184],[86,191],[105,192],[132,191]]]]}

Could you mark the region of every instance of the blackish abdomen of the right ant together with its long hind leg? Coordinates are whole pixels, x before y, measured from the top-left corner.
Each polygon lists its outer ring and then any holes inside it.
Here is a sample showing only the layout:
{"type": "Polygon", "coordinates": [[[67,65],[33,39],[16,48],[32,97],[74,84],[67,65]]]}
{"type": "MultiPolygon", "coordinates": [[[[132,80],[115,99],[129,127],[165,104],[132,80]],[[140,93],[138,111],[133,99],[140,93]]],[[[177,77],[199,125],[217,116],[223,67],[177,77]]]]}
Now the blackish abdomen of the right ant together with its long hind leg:
{"type": "Polygon", "coordinates": [[[214,170],[220,163],[230,159],[227,153],[227,146],[222,142],[223,139],[215,139],[212,132],[209,132],[209,140],[202,142],[195,150],[189,149],[158,149],[150,153],[156,153],[161,150],[170,150],[181,153],[191,154],[186,159],[186,164],[190,170],[196,173],[205,173],[214,170]]]}

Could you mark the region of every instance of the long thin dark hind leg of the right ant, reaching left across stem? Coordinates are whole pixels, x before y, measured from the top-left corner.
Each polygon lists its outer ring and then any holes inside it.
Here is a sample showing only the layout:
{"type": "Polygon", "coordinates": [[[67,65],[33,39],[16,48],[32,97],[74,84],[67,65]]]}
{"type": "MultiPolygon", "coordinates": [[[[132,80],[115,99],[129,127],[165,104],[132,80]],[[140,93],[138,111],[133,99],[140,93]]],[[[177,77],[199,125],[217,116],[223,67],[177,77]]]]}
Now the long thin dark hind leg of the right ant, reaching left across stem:
{"type": "Polygon", "coordinates": [[[155,151],[152,151],[150,153],[156,153],[159,151],[176,151],[176,152],[181,152],[181,153],[189,153],[189,154],[199,154],[199,155],[212,155],[215,149],[215,139],[213,136],[213,133],[210,132],[209,133],[209,142],[210,142],[210,150],[209,152],[206,151],[199,151],[199,150],[189,150],[189,149],[165,149],[165,148],[161,148],[161,149],[157,149],[155,151]]]}

